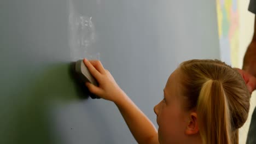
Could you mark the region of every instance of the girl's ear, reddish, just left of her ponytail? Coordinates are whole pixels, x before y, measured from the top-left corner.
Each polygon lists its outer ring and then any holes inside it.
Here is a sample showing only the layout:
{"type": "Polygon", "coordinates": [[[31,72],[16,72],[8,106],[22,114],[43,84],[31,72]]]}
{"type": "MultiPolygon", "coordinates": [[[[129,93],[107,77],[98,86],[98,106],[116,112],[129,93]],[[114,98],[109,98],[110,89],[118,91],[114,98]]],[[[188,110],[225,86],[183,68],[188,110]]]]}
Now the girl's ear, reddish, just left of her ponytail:
{"type": "Polygon", "coordinates": [[[189,124],[185,130],[185,134],[194,135],[199,133],[198,119],[196,112],[190,113],[189,124]]]}

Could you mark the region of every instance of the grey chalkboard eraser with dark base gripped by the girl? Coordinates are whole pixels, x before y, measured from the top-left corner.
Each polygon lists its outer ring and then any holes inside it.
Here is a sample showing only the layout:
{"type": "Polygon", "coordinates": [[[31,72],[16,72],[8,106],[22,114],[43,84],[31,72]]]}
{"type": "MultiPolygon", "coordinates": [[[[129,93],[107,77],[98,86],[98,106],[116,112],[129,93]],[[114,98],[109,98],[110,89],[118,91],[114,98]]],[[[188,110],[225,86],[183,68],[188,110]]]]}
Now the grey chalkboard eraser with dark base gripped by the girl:
{"type": "MultiPolygon", "coordinates": [[[[75,73],[77,74],[78,79],[80,79],[80,81],[83,81],[84,85],[85,85],[85,82],[90,82],[93,85],[98,86],[96,79],[90,74],[90,72],[89,72],[88,68],[86,67],[86,65],[84,64],[83,60],[79,60],[79,61],[75,62],[75,73]]],[[[91,93],[89,95],[93,99],[100,98],[91,93]]]]}

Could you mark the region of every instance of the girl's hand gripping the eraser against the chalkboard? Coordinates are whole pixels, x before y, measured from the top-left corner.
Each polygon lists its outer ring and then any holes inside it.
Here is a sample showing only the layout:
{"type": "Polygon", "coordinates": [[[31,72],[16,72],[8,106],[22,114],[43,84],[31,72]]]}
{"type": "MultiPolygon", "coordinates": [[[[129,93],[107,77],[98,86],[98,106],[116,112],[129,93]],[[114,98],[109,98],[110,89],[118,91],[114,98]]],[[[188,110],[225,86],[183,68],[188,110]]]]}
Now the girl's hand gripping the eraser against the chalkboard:
{"type": "Polygon", "coordinates": [[[91,93],[103,99],[113,101],[114,103],[125,96],[123,90],[118,86],[117,82],[115,82],[109,71],[103,68],[100,61],[88,61],[84,59],[84,64],[99,84],[97,87],[89,82],[85,83],[91,93]]]}

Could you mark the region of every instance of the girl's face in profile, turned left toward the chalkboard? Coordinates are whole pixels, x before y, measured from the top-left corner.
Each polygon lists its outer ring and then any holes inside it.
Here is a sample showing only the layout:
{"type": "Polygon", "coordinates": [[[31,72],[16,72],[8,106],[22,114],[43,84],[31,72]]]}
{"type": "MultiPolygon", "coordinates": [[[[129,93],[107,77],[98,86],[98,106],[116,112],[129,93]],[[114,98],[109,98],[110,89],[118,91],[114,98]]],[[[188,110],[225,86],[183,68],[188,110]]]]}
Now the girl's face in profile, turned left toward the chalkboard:
{"type": "Polygon", "coordinates": [[[158,139],[160,143],[182,143],[185,130],[189,124],[187,112],[183,110],[179,69],[168,78],[164,88],[164,99],[154,107],[159,125],[158,139]]]}

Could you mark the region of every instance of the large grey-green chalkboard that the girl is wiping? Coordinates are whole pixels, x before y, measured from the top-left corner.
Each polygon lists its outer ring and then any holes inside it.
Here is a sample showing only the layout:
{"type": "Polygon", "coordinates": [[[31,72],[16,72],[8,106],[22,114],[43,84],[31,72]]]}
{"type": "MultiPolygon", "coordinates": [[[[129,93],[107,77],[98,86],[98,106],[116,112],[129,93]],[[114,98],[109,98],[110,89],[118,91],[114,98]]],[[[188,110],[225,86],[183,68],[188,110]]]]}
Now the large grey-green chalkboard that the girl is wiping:
{"type": "Polygon", "coordinates": [[[83,57],[155,125],[178,64],[220,58],[214,1],[12,0],[0,17],[0,143],[136,143],[117,107],[73,79],[83,57]]]}

